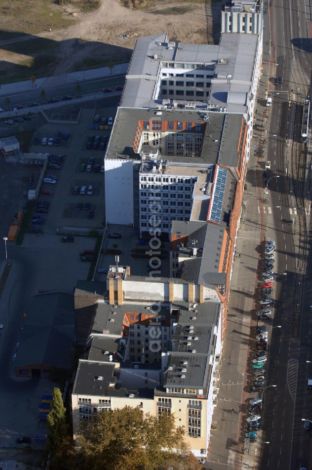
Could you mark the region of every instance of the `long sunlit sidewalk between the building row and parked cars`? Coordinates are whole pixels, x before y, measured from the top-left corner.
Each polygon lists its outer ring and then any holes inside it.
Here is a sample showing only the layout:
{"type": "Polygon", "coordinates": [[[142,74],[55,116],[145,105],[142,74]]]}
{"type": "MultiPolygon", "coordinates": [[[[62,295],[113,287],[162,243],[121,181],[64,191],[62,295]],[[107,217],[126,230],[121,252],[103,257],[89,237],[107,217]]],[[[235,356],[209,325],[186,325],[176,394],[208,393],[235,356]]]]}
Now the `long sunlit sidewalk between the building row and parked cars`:
{"type": "MultiPolygon", "coordinates": [[[[247,368],[249,368],[253,349],[250,331],[256,326],[257,316],[254,293],[258,288],[259,243],[264,241],[265,236],[270,236],[270,230],[265,230],[266,212],[263,169],[261,168],[264,158],[259,163],[257,162],[259,141],[265,137],[264,122],[267,108],[263,106],[263,103],[266,103],[267,93],[273,89],[273,83],[269,80],[272,72],[274,73],[270,70],[270,65],[274,68],[272,61],[274,52],[272,47],[269,51],[269,16],[272,28],[273,8],[270,8],[270,15],[267,11],[264,13],[266,26],[263,37],[263,70],[257,94],[257,111],[254,121],[256,126],[250,147],[255,151],[254,155],[250,156],[246,174],[247,190],[243,195],[246,213],[244,222],[241,221],[236,240],[236,256],[228,302],[227,331],[221,358],[218,404],[213,415],[213,425],[216,429],[212,431],[206,464],[206,468],[212,470],[255,468],[259,454],[261,454],[259,441],[264,440],[259,436],[258,444],[251,443],[249,454],[243,454],[246,432],[245,412],[251,398],[247,392],[250,387],[247,368]],[[255,312],[256,315],[254,315],[255,312]],[[234,414],[231,413],[232,408],[234,408],[234,414]]],[[[261,435],[261,431],[258,431],[258,434],[261,435]]]]}

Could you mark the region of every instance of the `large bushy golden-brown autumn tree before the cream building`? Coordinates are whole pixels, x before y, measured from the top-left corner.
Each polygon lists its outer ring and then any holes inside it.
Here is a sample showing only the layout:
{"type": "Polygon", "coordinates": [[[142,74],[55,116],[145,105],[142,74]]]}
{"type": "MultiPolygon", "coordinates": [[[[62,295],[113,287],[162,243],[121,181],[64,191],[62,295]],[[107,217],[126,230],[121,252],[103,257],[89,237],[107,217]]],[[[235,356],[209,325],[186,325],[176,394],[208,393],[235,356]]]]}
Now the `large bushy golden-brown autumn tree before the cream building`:
{"type": "Polygon", "coordinates": [[[78,437],[80,468],[153,470],[171,459],[197,470],[199,466],[188,466],[192,457],[183,435],[184,428],[175,427],[174,415],[143,415],[140,408],[131,407],[102,411],[78,437]]]}

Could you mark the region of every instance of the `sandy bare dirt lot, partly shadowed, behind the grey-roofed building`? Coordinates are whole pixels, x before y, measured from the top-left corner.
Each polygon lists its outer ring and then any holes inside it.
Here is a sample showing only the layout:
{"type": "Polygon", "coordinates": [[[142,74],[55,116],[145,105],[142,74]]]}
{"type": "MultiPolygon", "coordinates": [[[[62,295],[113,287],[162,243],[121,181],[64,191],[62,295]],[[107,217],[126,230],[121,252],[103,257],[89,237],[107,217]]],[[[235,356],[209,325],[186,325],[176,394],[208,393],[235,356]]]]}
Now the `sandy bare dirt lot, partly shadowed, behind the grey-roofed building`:
{"type": "MultiPolygon", "coordinates": [[[[115,63],[127,61],[137,38],[163,32],[168,33],[169,39],[177,41],[213,44],[218,42],[215,31],[220,31],[222,3],[215,0],[158,0],[156,6],[134,10],[124,8],[119,0],[102,0],[98,10],[89,14],[75,12],[74,18],[72,7],[63,6],[62,16],[65,19],[70,17],[71,21],[66,27],[53,27],[52,31],[48,28],[48,31],[45,29],[36,34],[39,38],[48,39],[49,47],[44,47],[37,57],[37,70],[33,64],[29,72],[34,73],[35,69],[37,77],[47,74],[47,71],[49,75],[59,75],[101,66],[110,60],[115,63]],[[50,60],[43,61],[44,67],[41,67],[45,51],[50,60]]],[[[42,39],[37,40],[39,46],[42,39]]],[[[26,44],[27,40],[18,39],[14,47],[11,40],[7,45],[5,41],[0,43],[3,47],[0,60],[6,62],[7,68],[8,64],[14,64],[15,67],[24,67],[27,72],[26,44]],[[21,54],[19,45],[22,44],[21,54]]],[[[36,52],[32,52],[31,58],[34,56],[36,52]]]]}

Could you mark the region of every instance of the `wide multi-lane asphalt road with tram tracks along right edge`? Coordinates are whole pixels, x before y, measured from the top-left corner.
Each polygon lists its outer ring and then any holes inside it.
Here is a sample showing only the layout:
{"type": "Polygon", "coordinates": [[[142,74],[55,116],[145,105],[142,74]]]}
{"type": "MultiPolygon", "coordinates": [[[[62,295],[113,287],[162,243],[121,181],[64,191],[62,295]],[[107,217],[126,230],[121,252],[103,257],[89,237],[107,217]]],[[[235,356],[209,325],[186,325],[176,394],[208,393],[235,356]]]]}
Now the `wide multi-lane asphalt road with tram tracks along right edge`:
{"type": "MultiPolygon", "coordinates": [[[[286,134],[292,131],[294,123],[293,106],[288,114],[289,93],[291,99],[303,102],[305,92],[309,93],[311,78],[312,45],[309,38],[310,5],[306,1],[274,1],[274,38],[276,75],[283,78],[282,87],[274,86],[272,116],[267,132],[268,155],[271,159],[271,174],[280,175],[270,181],[270,197],[276,239],[277,272],[286,272],[276,283],[267,385],[276,384],[264,393],[263,428],[269,446],[261,446],[262,469],[299,470],[312,468],[312,431],[304,431],[302,417],[312,420],[312,391],[306,389],[306,379],[311,373],[311,267],[305,279],[304,308],[300,325],[300,338],[291,337],[290,321],[293,309],[295,284],[295,249],[297,237],[293,237],[291,220],[296,211],[289,208],[286,193],[291,185],[286,175],[287,162],[286,134]],[[293,90],[293,92],[291,91],[293,90]],[[285,93],[286,92],[286,93],[285,93]],[[288,121],[286,117],[288,116],[288,121]]],[[[308,158],[310,158],[308,156],[308,158]]],[[[290,204],[292,205],[292,204],[290,204]]],[[[307,217],[309,226],[309,217],[307,217]]],[[[270,227],[268,227],[270,229],[270,227]]],[[[297,250],[297,248],[296,248],[297,250]]]]}

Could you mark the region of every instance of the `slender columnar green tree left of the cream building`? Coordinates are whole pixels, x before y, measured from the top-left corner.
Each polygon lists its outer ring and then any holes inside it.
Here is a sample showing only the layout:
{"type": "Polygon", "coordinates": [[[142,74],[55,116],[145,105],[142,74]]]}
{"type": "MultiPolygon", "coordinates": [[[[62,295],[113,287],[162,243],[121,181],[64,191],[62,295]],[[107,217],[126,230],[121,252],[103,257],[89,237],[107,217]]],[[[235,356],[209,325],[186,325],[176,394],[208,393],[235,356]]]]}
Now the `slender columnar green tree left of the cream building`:
{"type": "Polygon", "coordinates": [[[51,451],[56,451],[61,446],[62,440],[68,433],[66,422],[66,408],[64,407],[61,391],[54,387],[51,410],[47,415],[47,427],[49,430],[48,446],[51,451]]]}

